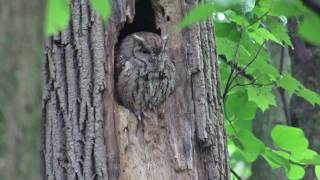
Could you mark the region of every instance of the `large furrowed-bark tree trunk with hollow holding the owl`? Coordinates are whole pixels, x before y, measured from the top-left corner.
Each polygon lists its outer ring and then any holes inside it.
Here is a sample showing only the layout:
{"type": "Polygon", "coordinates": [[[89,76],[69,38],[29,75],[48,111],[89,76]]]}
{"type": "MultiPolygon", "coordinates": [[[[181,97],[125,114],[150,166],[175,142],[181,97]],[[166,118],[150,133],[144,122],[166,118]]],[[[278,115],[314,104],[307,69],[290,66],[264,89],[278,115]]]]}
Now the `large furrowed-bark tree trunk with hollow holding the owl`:
{"type": "Polygon", "coordinates": [[[44,66],[46,179],[230,179],[212,20],[172,29],[195,0],[113,0],[105,28],[87,0],[47,41],[44,66]],[[115,92],[117,45],[126,35],[169,35],[174,93],[147,111],[144,132],[115,92]]]}

